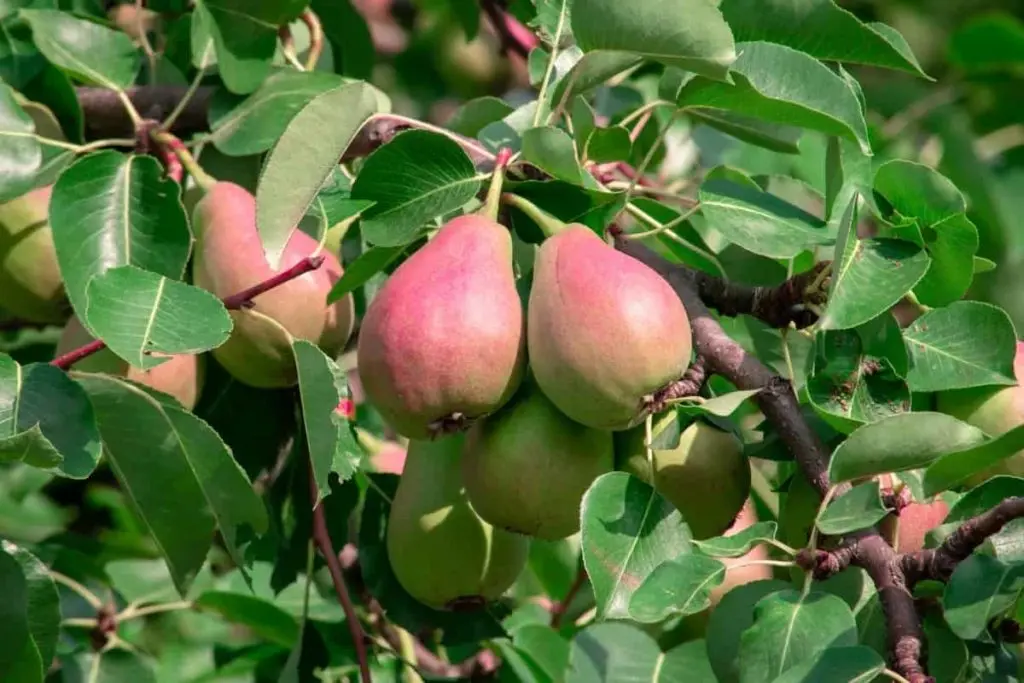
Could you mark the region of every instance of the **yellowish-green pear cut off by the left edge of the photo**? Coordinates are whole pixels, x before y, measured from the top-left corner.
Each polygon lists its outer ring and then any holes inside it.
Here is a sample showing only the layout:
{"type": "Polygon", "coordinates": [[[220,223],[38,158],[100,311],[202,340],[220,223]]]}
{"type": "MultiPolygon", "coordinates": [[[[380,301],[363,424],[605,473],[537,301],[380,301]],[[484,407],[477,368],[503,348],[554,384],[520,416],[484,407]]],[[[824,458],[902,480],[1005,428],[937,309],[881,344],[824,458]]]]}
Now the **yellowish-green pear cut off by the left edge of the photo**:
{"type": "Polygon", "coordinates": [[[61,324],[71,312],[49,225],[52,189],[0,204],[0,307],[30,323],[61,324]]]}

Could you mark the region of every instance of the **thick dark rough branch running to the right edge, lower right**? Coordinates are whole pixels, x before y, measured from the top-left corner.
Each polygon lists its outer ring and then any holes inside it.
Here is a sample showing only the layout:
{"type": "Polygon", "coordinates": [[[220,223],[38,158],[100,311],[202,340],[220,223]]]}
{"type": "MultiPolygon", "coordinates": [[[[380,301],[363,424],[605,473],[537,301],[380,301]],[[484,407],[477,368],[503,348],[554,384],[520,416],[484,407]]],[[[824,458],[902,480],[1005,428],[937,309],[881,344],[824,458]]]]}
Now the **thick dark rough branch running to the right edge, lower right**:
{"type": "Polygon", "coordinates": [[[938,548],[903,555],[900,560],[907,583],[913,586],[925,579],[948,581],[956,565],[970,557],[985,539],[1021,517],[1024,517],[1024,498],[1008,498],[965,521],[938,548]]]}

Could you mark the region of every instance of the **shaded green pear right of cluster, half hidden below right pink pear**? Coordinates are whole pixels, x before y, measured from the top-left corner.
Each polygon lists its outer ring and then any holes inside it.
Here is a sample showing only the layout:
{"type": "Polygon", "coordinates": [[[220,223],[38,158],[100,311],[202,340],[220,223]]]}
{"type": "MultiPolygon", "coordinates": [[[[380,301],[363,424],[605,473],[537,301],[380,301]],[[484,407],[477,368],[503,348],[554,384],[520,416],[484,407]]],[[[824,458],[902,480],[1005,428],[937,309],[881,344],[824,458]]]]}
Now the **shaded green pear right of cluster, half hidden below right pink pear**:
{"type": "MultiPolygon", "coordinates": [[[[675,412],[656,419],[651,430],[654,442],[665,430],[678,428],[678,420],[675,412]]],[[[676,506],[694,539],[723,533],[751,492],[751,466],[743,444],[733,434],[695,420],[683,429],[675,449],[653,451],[651,477],[645,431],[641,425],[615,434],[618,469],[651,484],[676,506]]]]}

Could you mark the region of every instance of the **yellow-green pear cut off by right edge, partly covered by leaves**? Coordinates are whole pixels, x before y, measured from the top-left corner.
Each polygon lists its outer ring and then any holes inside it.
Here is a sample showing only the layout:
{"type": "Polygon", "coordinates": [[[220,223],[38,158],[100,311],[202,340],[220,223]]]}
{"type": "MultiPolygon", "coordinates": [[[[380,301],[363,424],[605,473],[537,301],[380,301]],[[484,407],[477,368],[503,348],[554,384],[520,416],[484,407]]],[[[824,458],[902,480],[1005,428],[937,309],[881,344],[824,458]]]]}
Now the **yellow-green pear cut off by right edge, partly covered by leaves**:
{"type": "MultiPolygon", "coordinates": [[[[979,342],[981,343],[981,342],[979,342]]],[[[954,389],[936,394],[936,408],[957,420],[974,425],[989,436],[999,436],[1024,424],[1024,342],[1017,342],[1014,356],[1013,386],[987,386],[954,389]]],[[[1024,451],[1018,451],[990,467],[973,475],[968,486],[977,486],[997,474],[1024,476],[1024,451]]]]}

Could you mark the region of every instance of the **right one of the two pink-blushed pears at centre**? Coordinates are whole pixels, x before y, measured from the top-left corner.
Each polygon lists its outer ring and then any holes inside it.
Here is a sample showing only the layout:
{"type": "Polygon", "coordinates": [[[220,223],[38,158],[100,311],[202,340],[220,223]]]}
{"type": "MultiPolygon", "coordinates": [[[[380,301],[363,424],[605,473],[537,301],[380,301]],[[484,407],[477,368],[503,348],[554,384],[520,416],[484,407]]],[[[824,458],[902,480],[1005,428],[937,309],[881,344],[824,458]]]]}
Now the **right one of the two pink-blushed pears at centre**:
{"type": "Polygon", "coordinates": [[[542,243],[528,311],[538,384],[558,410],[594,429],[638,424],[645,399],[690,361],[690,324],[676,293],[585,225],[542,243]]]}

